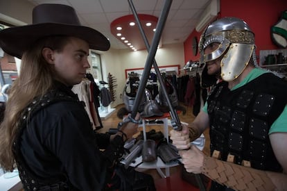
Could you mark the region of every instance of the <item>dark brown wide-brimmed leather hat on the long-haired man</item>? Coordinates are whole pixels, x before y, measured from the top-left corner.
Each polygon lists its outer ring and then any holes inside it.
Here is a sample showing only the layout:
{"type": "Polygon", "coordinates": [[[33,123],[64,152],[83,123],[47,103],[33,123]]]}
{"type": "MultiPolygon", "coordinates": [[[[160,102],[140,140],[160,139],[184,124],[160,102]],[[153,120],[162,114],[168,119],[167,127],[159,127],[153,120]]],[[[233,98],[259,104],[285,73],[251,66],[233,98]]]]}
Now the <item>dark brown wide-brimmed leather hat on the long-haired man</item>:
{"type": "Polygon", "coordinates": [[[33,24],[0,31],[0,47],[11,56],[21,58],[36,40],[51,35],[80,38],[89,43],[90,49],[110,49],[110,42],[102,33],[81,26],[76,11],[61,4],[40,4],[33,9],[33,24]]]}

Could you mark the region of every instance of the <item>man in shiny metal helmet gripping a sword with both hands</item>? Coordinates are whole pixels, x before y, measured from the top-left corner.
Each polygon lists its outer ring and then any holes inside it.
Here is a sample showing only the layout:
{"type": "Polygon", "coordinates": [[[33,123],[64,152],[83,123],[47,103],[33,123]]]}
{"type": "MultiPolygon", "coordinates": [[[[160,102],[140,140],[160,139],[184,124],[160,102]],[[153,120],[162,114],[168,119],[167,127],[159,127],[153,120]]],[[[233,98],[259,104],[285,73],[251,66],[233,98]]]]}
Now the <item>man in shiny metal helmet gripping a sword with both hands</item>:
{"type": "Polygon", "coordinates": [[[210,24],[200,39],[200,62],[222,81],[191,124],[171,131],[186,171],[211,178],[211,190],[287,188],[287,84],[258,67],[254,49],[254,33],[243,20],[210,24]],[[208,127],[217,157],[190,144],[208,127]]]}

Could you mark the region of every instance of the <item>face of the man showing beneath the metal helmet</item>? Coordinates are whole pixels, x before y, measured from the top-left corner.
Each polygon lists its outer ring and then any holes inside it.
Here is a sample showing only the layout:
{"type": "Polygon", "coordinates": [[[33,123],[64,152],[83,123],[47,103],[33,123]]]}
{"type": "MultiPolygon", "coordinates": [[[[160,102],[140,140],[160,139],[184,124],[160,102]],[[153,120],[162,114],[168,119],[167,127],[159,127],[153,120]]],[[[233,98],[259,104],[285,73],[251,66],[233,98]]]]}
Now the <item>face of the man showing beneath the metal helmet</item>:
{"type": "MultiPolygon", "coordinates": [[[[215,51],[216,49],[218,49],[219,44],[220,43],[217,43],[217,42],[209,44],[205,48],[205,51],[204,51],[205,55],[215,51]]],[[[222,57],[217,58],[216,60],[211,60],[211,61],[206,63],[206,65],[207,65],[207,74],[220,76],[220,72],[221,72],[220,62],[221,62],[221,59],[222,59],[222,57]]]]}

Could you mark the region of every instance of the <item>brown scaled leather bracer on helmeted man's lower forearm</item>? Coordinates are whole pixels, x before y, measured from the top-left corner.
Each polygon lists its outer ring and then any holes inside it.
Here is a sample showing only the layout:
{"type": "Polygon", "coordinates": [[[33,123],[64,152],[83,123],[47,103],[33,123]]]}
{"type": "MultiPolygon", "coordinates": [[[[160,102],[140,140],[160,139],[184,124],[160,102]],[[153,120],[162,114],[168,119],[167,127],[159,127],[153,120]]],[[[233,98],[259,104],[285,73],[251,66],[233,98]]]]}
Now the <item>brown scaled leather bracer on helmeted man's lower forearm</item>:
{"type": "MultiPolygon", "coordinates": [[[[229,159],[232,160],[232,156],[229,159]]],[[[202,174],[234,190],[271,191],[276,188],[264,171],[228,163],[209,156],[205,156],[202,174]]]]}

